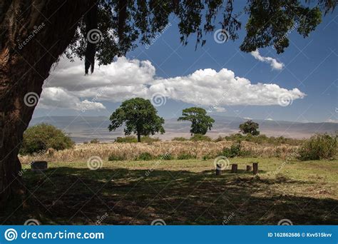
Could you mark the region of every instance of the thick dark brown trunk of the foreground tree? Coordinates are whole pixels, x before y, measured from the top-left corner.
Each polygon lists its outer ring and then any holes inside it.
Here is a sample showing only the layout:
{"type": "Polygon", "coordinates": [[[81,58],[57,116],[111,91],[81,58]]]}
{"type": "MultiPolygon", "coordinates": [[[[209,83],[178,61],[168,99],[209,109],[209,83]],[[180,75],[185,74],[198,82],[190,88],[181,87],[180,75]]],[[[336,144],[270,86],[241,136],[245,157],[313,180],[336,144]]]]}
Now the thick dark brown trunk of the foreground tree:
{"type": "Polygon", "coordinates": [[[18,153],[34,99],[91,4],[91,0],[0,2],[0,208],[24,193],[18,153]]]}

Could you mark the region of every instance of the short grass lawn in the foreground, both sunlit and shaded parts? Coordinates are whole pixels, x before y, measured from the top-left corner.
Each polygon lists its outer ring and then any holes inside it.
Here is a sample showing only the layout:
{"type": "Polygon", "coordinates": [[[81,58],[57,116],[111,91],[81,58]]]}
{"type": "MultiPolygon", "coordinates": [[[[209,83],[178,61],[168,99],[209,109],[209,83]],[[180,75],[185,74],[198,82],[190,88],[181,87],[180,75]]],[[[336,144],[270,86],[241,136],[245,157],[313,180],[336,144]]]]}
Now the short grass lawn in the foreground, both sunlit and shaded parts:
{"type": "Polygon", "coordinates": [[[24,166],[27,199],[1,213],[4,224],[294,225],[338,224],[338,161],[283,163],[233,158],[238,173],[215,176],[213,160],[49,163],[43,174],[24,166]],[[259,162],[259,174],[245,166],[259,162]],[[104,217],[103,217],[104,216],[104,217]]]}

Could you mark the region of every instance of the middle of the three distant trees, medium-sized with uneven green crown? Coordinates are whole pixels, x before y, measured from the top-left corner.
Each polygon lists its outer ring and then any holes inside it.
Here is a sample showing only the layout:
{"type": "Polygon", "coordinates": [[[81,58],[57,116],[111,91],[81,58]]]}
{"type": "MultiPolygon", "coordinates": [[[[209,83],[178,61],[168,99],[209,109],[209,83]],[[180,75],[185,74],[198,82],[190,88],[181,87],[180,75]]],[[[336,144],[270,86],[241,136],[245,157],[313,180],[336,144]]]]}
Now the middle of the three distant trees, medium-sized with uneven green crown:
{"type": "Polygon", "coordinates": [[[191,122],[191,129],[190,133],[193,134],[202,134],[211,130],[212,123],[215,122],[213,118],[207,116],[207,111],[203,108],[185,108],[182,111],[182,116],[178,118],[178,121],[190,121],[191,122]]]}

